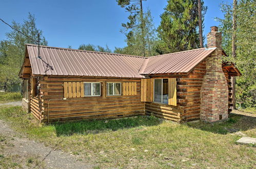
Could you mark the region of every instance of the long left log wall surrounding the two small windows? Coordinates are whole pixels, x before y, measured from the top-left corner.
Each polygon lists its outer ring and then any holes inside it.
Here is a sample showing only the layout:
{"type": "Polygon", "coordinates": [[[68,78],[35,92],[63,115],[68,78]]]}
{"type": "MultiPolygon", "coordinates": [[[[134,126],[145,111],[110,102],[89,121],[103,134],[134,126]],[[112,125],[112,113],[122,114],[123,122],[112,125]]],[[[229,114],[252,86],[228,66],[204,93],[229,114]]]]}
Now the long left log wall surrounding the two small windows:
{"type": "Polygon", "coordinates": [[[74,119],[106,119],[145,115],[145,103],[140,101],[140,79],[44,77],[40,81],[43,94],[43,121],[66,121],[74,119]],[[102,96],[67,98],[64,96],[64,81],[100,81],[102,96]],[[136,82],[136,95],[106,96],[107,82],[136,82]],[[105,88],[105,89],[103,89],[105,88]],[[50,100],[49,105],[48,101],[50,100]],[[58,99],[58,100],[56,100],[58,99]],[[49,107],[50,106],[50,107],[49,107]]]}

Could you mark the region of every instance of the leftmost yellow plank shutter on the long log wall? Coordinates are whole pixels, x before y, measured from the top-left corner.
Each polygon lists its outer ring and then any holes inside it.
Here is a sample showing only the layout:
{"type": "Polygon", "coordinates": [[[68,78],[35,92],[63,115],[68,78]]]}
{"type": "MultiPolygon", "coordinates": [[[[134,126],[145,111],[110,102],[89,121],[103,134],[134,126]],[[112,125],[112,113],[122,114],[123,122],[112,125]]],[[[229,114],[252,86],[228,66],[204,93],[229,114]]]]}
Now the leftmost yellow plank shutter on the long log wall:
{"type": "Polygon", "coordinates": [[[84,97],[84,82],[64,82],[64,98],[84,97]]]}

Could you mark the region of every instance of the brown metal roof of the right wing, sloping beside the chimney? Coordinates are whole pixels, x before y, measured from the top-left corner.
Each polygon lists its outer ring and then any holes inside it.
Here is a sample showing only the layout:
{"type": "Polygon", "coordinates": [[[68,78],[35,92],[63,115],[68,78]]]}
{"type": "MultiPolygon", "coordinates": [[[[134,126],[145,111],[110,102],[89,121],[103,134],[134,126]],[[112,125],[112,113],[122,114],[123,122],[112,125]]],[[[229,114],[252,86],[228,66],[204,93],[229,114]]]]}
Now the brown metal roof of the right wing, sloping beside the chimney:
{"type": "Polygon", "coordinates": [[[216,48],[200,48],[146,58],[141,74],[188,73],[216,48]]]}

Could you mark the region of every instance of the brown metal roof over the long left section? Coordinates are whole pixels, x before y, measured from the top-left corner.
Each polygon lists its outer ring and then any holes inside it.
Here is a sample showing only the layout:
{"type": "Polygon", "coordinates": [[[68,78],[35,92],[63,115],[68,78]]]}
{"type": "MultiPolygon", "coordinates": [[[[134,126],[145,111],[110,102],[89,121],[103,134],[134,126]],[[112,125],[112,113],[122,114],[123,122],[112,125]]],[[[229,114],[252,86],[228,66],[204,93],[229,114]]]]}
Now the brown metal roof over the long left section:
{"type": "Polygon", "coordinates": [[[40,46],[40,56],[53,67],[51,70],[37,58],[36,45],[26,46],[34,75],[144,77],[139,74],[144,57],[40,46]]]}

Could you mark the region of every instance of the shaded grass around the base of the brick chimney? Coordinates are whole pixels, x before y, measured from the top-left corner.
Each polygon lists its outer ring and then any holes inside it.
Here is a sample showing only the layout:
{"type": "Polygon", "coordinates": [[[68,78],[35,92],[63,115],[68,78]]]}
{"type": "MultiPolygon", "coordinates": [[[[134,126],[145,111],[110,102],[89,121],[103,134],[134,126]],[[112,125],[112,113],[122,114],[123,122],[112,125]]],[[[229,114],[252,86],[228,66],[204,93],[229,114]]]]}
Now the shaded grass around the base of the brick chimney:
{"type": "Polygon", "coordinates": [[[242,115],[242,114],[229,114],[229,120],[219,123],[205,123],[205,122],[188,122],[185,125],[193,129],[200,129],[207,132],[216,134],[228,134],[238,131],[247,131],[256,128],[256,117],[242,115]]]}

